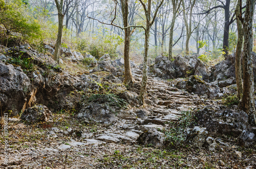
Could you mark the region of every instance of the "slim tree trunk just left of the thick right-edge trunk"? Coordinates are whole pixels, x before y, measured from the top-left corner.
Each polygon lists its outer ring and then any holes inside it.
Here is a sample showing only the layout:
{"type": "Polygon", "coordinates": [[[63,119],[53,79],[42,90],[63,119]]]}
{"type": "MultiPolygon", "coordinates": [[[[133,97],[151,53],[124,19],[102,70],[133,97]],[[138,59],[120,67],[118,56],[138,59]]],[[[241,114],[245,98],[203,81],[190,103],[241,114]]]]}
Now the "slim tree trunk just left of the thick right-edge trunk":
{"type": "Polygon", "coordinates": [[[241,68],[241,53],[242,53],[242,44],[243,44],[243,25],[239,18],[240,15],[240,0],[238,0],[236,12],[237,27],[238,27],[238,43],[236,50],[236,80],[238,88],[238,98],[239,100],[243,95],[243,84],[242,84],[242,68],[241,68]]]}

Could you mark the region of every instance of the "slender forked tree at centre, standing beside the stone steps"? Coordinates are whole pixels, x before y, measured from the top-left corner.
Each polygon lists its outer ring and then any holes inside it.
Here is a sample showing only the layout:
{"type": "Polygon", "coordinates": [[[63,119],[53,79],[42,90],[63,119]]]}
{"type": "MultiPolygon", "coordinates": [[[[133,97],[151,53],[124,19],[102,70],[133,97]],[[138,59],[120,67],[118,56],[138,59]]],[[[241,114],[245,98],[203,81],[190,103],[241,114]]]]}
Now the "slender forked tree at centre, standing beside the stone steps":
{"type": "Polygon", "coordinates": [[[139,0],[144,12],[145,12],[145,18],[146,18],[146,27],[143,27],[144,31],[145,31],[145,44],[144,44],[144,60],[143,60],[143,75],[142,75],[142,83],[141,83],[141,88],[140,88],[140,95],[139,95],[139,104],[144,106],[144,96],[145,96],[145,92],[146,92],[146,86],[147,86],[147,52],[148,52],[148,45],[149,45],[149,41],[150,41],[150,28],[152,26],[152,24],[154,23],[154,20],[157,16],[157,12],[159,10],[159,8],[161,7],[161,5],[163,4],[162,0],[160,2],[160,4],[157,6],[156,11],[153,15],[153,18],[151,20],[151,4],[152,4],[152,0],[148,0],[147,1],[147,6],[144,4],[144,2],[142,0],[139,0]]]}

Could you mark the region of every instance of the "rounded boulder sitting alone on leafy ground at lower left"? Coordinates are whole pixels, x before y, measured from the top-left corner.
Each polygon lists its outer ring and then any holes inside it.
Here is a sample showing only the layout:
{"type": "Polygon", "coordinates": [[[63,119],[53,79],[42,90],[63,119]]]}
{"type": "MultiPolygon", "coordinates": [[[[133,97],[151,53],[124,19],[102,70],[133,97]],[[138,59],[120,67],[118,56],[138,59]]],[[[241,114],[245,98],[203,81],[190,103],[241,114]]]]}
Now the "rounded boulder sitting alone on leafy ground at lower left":
{"type": "Polygon", "coordinates": [[[28,123],[47,122],[52,116],[52,112],[45,105],[34,105],[26,109],[21,119],[28,123]]]}

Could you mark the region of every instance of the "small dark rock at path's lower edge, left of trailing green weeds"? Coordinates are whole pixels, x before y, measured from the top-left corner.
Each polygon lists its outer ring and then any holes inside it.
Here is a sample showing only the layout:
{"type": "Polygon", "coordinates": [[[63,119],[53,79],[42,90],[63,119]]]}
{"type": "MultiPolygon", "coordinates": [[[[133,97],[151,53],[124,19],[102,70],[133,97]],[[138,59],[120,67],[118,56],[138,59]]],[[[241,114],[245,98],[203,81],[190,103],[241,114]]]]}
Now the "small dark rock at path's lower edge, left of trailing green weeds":
{"type": "Polygon", "coordinates": [[[140,134],[136,142],[140,145],[153,146],[155,148],[160,148],[163,146],[164,137],[163,133],[157,131],[157,129],[152,128],[140,134]]]}

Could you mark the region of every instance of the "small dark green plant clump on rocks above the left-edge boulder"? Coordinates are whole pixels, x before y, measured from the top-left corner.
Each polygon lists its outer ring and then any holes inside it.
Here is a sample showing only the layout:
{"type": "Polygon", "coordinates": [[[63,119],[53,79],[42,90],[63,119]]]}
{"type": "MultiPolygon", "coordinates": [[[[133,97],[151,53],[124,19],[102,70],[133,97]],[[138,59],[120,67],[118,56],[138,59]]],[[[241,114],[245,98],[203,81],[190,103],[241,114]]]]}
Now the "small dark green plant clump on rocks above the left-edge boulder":
{"type": "Polygon", "coordinates": [[[22,69],[32,70],[34,68],[32,60],[33,58],[22,58],[22,56],[19,55],[17,58],[15,57],[11,58],[8,62],[10,64],[19,65],[22,67],[22,69]]]}

